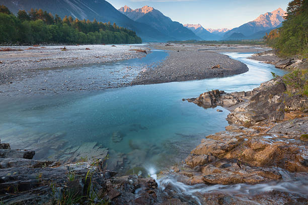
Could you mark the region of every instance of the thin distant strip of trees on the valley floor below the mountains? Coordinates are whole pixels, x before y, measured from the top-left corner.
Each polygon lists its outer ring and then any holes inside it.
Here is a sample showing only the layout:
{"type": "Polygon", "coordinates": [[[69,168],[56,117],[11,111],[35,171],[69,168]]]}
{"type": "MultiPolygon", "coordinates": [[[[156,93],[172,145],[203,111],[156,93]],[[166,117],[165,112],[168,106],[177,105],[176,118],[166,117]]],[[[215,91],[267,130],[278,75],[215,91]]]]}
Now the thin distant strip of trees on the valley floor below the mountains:
{"type": "Polygon", "coordinates": [[[264,41],[197,41],[197,40],[187,40],[187,41],[168,41],[168,43],[183,43],[183,44],[241,44],[241,45],[262,45],[265,44],[264,41]]]}

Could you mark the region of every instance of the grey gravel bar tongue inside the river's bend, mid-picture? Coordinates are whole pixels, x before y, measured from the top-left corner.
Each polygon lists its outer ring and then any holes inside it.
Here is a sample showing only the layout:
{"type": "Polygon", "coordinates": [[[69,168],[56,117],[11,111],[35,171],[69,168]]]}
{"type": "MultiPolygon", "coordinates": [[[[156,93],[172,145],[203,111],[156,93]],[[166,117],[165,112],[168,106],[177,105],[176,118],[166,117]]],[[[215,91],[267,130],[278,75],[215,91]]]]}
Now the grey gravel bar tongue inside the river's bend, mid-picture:
{"type": "Polygon", "coordinates": [[[199,80],[241,74],[248,67],[237,60],[213,51],[204,51],[203,46],[155,46],[169,50],[167,59],[157,67],[147,69],[136,77],[132,84],[153,84],[174,81],[199,80]]]}

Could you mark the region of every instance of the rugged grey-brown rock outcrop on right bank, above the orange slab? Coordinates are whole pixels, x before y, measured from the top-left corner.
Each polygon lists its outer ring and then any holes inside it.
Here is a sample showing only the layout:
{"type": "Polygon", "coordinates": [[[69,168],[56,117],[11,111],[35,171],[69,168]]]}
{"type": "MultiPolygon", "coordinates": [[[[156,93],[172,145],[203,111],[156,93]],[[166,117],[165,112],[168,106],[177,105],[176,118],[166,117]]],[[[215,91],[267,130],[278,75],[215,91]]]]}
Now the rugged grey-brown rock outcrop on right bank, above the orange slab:
{"type": "Polygon", "coordinates": [[[239,106],[227,116],[229,124],[283,121],[285,112],[304,110],[308,107],[308,99],[301,95],[289,96],[281,78],[264,82],[254,89],[256,92],[244,105],[239,106]]]}

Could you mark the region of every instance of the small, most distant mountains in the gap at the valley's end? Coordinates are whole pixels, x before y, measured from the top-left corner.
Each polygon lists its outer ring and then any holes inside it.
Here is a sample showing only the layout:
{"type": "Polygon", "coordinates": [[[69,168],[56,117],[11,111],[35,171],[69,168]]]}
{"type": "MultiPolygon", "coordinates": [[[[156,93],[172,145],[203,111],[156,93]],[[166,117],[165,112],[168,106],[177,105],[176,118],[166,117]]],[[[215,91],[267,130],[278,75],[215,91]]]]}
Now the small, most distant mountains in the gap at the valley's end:
{"type": "Polygon", "coordinates": [[[206,41],[221,40],[225,31],[228,31],[228,29],[204,29],[200,24],[185,24],[184,26],[206,41]]]}

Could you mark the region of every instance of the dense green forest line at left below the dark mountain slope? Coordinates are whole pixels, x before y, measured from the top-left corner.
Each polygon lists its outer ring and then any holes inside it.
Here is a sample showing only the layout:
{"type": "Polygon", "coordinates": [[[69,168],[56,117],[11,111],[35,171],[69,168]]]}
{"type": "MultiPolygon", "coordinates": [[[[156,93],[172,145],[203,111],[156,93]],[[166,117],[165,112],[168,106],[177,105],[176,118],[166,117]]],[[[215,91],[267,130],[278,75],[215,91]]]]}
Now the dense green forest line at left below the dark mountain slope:
{"type": "Polygon", "coordinates": [[[96,20],[61,19],[41,9],[20,10],[15,16],[0,6],[0,44],[136,44],[134,31],[96,20]]]}

